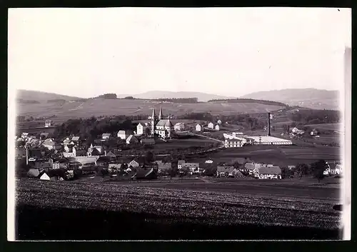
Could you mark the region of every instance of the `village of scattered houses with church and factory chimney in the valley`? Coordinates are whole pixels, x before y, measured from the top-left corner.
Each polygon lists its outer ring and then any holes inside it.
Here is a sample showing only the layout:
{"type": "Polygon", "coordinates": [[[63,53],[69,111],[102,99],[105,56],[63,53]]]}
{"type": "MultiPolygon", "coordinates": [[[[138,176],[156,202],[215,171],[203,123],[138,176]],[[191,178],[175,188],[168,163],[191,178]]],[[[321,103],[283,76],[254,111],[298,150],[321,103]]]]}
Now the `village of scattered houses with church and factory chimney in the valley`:
{"type": "MultiPolygon", "coordinates": [[[[200,148],[188,154],[201,155],[225,149],[246,148],[246,146],[292,146],[291,139],[271,136],[272,115],[268,113],[268,133],[265,136],[248,136],[242,132],[220,131],[222,121],[215,124],[196,124],[188,127],[183,122],[173,124],[170,116],[164,117],[159,109],[159,116],[153,108],[148,121],[137,124],[136,131],[119,130],[116,135],[102,133],[99,138],[87,146],[86,139],[79,136],[67,136],[55,139],[48,132],[21,132],[16,136],[16,159],[23,162],[24,168],[18,171],[19,176],[39,178],[48,181],[64,181],[81,178],[109,178],[115,181],[134,181],[151,179],[183,179],[211,176],[218,178],[259,178],[282,179],[302,176],[302,167],[291,163],[280,167],[273,163],[254,162],[251,158],[234,158],[221,161],[219,158],[206,158],[201,162],[185,160],[185,155],[178,153],[155,154],[153,149],[160,143],[171,144],[171,141],[181,141],[181,136],[195,136],[211,140],[206,148],[200,148]],[[221,137],[211,136],[210,132],[218,132],[221,137]],[[208,133],[208,135],[207,135],[208,133]],[[223,136],[223,140],[222,139],[223,136]],[[123,149],[117,148],[118,142],[123,149]],[[214,142],[214,144],[213,144],[214,142]],[[113,144],[114,143],[114,144],[113,144]],[[124,148],[141,146],[142,151],[128,154],[124,148]],[[26,165],[24,164],[26,162],[26,165]]],[[[45,128],[51,127],[51,121],[45,121],[45,128]]],[[[291,128],[289,138],[299,138],[304,133],[298,128],[291,128]]],[[[311,131],[311,136],[318,136],[317,131],[311,131]]],[[[281,133],[283,136],[284,133],[281,133]]],[[[238,151],[237,149],[237,151],[238,151]]],[[[188,158],[186,158],[188,159],[188,158]]],[[[326,162],[323,176],[340,175],[341,163],[326,162]]]]}

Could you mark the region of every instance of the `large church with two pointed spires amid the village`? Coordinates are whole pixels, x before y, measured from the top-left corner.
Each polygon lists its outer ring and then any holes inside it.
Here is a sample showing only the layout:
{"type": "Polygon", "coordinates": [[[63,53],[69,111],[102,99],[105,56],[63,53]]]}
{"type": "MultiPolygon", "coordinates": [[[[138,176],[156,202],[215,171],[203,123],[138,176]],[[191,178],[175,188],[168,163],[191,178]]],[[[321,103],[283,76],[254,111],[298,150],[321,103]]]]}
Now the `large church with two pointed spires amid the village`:
{"type": "Polygon", "coordinates": [[[171,123],[169,117],[164,119],[161,107],[159,116],[156,116],[155,108],[153,108],[153,113],[150,119],[151,121],[149,121],[147,124],[138,124],[138,126],[136,126],[136,132],[138,135],[144,134],[146,132],[146,128],[149,128],[151,136],[157,134],[161,136],[161,138],[171,138],[172,134],[174,133],[174,124],[171,123]]]}

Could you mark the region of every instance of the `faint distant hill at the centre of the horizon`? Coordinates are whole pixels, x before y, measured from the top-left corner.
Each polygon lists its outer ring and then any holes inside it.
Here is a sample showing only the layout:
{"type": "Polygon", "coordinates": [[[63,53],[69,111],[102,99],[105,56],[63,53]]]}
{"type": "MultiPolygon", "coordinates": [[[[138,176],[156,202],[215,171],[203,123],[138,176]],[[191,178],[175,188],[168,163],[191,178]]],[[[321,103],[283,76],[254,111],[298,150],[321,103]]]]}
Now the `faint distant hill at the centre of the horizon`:
{"type": "MultiPolygon", "coordinates": [[[[129,95],[121,95],[125,97],[129,95]]],[[[137,99],[164,99],[164,98],[192,98],[196,97],[198,101],[209,101],[213,99],[230,99],[234,97],[219,96],[216,94],[206,94],[201,92],[171,92],[171,91],[149,91],[143,94],[131,95],[137,99]]]]}

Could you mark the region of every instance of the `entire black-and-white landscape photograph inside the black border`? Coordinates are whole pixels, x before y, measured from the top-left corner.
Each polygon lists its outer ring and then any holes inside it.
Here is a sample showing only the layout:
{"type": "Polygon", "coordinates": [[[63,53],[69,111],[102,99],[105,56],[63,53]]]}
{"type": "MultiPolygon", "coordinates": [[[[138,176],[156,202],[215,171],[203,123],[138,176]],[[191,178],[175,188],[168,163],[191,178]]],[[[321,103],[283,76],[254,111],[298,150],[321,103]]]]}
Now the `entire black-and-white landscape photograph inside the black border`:
{"type": "Polygon", "coordinates": [[[351,9],[8,14],[8,241],[351,239],[351,9]]]}

